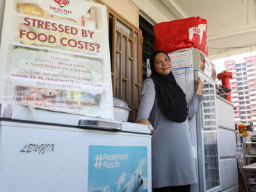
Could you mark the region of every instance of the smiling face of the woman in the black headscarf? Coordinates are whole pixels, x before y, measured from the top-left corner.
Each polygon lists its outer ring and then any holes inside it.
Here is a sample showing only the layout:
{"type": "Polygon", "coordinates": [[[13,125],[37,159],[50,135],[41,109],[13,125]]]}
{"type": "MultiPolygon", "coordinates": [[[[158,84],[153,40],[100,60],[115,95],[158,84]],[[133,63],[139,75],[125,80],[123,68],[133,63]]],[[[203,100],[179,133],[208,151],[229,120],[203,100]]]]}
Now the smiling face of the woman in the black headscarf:
{"type": "Polygon", "coordinates": [[[154,57],[154,69],[162,76],[167,76],[173,64],[165,53],[158,53],[154,57]]]}

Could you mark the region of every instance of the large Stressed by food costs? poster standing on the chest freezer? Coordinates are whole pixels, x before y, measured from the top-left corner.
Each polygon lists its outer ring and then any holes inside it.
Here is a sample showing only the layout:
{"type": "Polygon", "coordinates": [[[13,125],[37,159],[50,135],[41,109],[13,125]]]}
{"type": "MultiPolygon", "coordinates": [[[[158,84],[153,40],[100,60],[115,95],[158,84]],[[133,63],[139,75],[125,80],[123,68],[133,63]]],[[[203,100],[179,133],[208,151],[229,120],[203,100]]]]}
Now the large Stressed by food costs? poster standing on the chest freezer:
{"type": "Polygon", "coordinates": [[[106,19],[86,0],[8,1],[1,103],[113,119],[106,19]]]}

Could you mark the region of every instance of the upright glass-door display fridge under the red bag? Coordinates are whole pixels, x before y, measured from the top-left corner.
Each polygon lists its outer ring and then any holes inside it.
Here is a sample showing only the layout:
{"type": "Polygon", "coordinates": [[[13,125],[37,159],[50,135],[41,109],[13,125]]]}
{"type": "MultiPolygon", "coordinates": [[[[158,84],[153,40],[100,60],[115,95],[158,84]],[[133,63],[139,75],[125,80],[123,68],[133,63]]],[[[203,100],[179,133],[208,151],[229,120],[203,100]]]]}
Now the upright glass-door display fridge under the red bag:
{"type": "Polygon", "coordinates": [[[203,100],[194,118],[189,121],[191,143],[198,170],[198,184],[191,191],[220,191],[220,155],[216,119],[216,70],[207,56],[197,49],[183,49],[168,54],[173,63],[173,75],[186,94],[187,101],[195,90],[194,79],[201,78],[205,87],[203,100]]]}

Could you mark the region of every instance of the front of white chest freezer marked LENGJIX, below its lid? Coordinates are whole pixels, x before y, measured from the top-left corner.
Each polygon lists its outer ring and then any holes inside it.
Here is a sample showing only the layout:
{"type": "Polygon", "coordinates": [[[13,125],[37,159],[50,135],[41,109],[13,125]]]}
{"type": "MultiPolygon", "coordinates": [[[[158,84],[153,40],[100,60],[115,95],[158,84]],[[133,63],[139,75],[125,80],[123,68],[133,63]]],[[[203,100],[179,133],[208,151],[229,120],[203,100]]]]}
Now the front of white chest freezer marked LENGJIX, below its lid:
{"type": "Polygon", "coordinates": [[[0,191],[122,191],[133,175],[151,191],[150,135],[0,121],[0,191]]]}

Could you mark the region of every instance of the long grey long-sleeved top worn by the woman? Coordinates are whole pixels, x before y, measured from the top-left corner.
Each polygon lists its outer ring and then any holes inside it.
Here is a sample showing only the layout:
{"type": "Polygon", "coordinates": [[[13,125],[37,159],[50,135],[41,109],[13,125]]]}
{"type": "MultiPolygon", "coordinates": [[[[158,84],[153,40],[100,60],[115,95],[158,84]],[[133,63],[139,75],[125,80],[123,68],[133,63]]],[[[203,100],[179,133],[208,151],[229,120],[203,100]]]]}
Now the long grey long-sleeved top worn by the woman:
{"type": "MultiPolygon", "coordinates": [[[[202,96],[194,94],[188,104],[188,119],[199,108],[202,96]]],[[[197,182],[188,119],[182,123],[170,121],[161,112],[154,82],[143,82],[137,121],[148,119],[152,134],[152,187],[177,186],[197,182]]]]}

